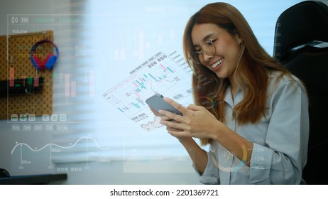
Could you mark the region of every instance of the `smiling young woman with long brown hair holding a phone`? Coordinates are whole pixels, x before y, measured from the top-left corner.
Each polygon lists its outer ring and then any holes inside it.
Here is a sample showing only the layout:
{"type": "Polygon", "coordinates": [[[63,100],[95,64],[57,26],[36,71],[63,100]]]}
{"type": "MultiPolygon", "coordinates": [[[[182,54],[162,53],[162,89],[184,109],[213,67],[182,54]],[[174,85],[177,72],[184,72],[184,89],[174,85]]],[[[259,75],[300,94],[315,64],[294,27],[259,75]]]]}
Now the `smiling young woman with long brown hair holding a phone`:
{"type": "Polygon", "coordinates": [[[160,110],[206,184],[300,184],[307,161],[307,93],[229,4],[204,6],[185,28],[195,104],[160,110]],[[173,120],[172,120],[173,119],[173,120]],[[202,145],[209,144],[204,151],[202,145]]]}

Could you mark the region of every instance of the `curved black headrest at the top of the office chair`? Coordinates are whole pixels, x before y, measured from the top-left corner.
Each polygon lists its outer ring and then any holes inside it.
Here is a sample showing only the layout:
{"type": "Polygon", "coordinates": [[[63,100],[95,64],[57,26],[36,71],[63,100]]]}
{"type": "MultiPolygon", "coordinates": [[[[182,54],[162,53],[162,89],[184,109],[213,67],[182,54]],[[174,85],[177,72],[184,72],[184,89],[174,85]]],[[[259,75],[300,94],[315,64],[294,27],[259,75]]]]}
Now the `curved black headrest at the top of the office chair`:
{"type": "Polygon", "coordinates": [[[320,1],[302,1],[285,10],[275,26],[274,57],[283,61],[288,52],[312,41],[328,42],[328,6],[320,1]]]}

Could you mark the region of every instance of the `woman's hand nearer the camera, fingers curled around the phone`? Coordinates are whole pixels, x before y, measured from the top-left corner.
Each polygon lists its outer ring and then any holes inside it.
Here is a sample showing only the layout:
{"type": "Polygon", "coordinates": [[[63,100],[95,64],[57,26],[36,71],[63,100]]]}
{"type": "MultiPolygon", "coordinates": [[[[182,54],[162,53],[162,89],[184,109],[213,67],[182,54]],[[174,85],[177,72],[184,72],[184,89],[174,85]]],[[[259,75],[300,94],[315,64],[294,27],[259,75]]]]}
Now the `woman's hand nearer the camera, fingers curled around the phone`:
{"type": "Polygon", "coordinates": [[[173,136],[190,136],[197,138],[214,139],[219,124],[221,124],[214,115],[207,109],[195,104],[190,104],[187,108],[178,104],[173,99],[164,97],[164,101],[171,104],[175,109],[182,112],[183,116],[160,110],[159,113],[169,117],[174,121],[162,120],[160,123],[168,129],[180,129],[179,131],[170,130],[173,136]]]}

